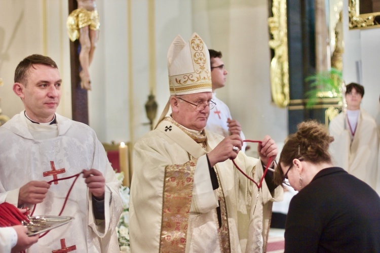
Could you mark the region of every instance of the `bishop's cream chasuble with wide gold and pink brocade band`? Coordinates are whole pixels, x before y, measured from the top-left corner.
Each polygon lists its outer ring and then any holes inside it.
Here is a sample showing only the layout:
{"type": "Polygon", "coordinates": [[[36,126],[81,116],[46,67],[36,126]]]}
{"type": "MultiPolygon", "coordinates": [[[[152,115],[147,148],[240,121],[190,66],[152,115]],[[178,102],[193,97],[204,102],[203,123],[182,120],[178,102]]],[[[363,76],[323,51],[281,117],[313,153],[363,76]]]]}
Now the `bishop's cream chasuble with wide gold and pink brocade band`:
{"type": "MultiPolygon", "coordinates": [[[[130,199],[132,252],[264,250],[270,220],[264,213],[271,212],[272,201],[281,200],[281,187],[272,196],[263,181],[256,204],[257,187],[227,160],[215,166],[219,188],[213,190],[206,154],[223,137],[207,131],[206,136],[166,117],[135,144],[130,199]]],[[[240,152],[235,161],[259,181],[263,168],[258,159],[240,152]]]]}

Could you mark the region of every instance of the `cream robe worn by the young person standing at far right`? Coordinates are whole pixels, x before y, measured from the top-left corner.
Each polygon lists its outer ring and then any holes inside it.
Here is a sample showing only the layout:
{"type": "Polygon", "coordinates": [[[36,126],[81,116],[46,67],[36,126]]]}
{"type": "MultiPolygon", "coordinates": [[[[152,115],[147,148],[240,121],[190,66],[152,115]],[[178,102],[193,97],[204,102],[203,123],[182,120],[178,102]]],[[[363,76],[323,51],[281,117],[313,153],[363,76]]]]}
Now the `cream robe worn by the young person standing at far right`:
{"type": "Polygon", "coordinates": [[[339,113],[331,120],[329,131],[334,137],[329,148],[333,164],[344,168],[376,190],[376,184],[380,179],[380,173],[377,172],[379,142],[377,125],[373,117],[361,109],[352,137],[345,114],[339,113]]]}

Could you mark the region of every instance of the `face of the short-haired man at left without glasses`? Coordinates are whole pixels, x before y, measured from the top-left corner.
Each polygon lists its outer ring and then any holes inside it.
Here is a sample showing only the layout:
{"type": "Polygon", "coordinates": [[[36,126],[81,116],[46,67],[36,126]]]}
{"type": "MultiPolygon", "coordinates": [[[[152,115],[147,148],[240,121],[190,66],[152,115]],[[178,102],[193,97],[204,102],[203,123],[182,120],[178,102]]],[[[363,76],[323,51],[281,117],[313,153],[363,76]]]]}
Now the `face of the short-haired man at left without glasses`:
{"type": "Polygon", "coordinates": [[[62,79],[58,69],[33,64],[26,79],[26,83],[21,83],[22,93],[19,95],[26,114],[36,122],[51,121],[61,99],[62,79]]]}

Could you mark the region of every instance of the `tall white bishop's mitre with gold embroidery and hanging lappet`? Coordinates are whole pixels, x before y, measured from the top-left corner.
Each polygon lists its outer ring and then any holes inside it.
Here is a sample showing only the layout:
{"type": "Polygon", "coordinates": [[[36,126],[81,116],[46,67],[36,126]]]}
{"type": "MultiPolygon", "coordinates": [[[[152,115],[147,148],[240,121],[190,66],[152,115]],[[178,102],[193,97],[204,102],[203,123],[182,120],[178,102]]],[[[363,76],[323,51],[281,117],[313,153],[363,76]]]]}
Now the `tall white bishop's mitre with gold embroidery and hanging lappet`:
{"type": "MultiPolygon", "coordinates": [[[[168,51],[170,95],[212,92],[210,55],[202,38],[193,33],[187,41],[177,35],[168,51]]],[[[170,98],[158,122],[169,111],[170,98]]]]}

